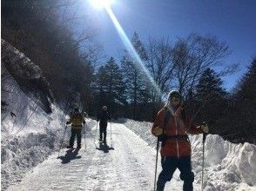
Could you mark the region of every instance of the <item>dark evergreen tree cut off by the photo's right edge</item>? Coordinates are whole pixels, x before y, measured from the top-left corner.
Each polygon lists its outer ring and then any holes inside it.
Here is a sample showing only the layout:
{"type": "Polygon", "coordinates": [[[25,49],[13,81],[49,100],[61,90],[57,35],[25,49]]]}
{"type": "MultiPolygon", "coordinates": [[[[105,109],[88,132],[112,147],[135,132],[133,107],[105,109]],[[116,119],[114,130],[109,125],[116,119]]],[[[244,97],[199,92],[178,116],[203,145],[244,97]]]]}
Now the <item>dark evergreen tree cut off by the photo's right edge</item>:
{"type": "Polygon", "coordinates": [[[232,96],[228,114],[232,141],[256,143],[256,57],[232,96]]]}

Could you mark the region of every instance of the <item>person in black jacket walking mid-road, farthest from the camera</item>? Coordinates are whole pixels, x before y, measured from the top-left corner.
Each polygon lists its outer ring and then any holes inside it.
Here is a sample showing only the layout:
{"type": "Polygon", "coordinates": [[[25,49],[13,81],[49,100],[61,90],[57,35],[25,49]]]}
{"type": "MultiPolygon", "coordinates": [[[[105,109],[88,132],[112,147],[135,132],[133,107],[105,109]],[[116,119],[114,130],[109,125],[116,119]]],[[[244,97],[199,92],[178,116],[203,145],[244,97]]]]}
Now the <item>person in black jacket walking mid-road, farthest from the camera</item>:
{"type": "Polygon", "coordinates": [[[103,142],[106,142],[106,128],[108,120],[111,120],[111,115],[107,111],[107,107],[104,106],[98,113],[97,122],[99,121],[99,142],[102,142],[102,134],[104,134],[103,142]]]}

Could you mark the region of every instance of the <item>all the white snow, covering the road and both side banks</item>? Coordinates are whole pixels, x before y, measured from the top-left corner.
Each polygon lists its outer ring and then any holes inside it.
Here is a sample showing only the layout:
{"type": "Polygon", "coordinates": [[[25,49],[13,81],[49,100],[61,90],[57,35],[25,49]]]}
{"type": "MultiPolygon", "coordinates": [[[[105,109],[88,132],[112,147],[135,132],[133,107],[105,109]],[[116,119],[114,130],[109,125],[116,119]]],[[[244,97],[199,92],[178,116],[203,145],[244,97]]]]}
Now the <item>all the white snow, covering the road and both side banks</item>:
{"type": "MultiPolygon", "coordinates": [[[[95,121],[87,119],[86,150],[83,140],[79,152],[62,148],[59,153],[64,112],[52,104],[52,113],[47,115],[2,65],[3,72],[7,76],[2,84],[2,100],[7,103],[1,116],[3,190],[152,190],[156,138],[151,134],[151,122],[122,119],[111,123],[105,147],[94,142],[98,128],[95,121]]],[[[69,135],[68,130],[64,145],[69,135]]],[[[200,190],[202,135],[192,135],[190,140],[194,190],[200,190]]],[[[160,169],[158,161],[158,173],[160,169]]],[[[207,191],[256,190],[255,145],[232,144],[219,135],[208,135],[204,180],[207,191]]],[[[166,190],[181,189],[177,170],[166,190]]]]}

